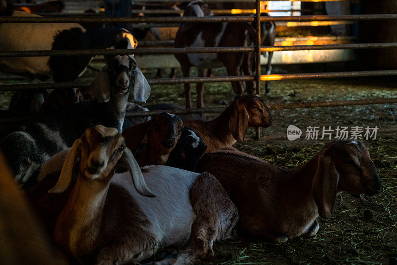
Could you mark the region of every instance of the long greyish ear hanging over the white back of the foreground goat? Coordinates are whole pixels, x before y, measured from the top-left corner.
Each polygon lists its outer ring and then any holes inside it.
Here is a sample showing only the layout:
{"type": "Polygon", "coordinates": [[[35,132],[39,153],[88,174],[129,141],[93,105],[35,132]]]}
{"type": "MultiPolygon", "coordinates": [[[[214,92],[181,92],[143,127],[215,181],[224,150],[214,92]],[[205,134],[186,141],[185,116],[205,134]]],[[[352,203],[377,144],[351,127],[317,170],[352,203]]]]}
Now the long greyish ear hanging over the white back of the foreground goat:
{"type": "Polygon", "coordinates": [[[156,197],[156,195],[152,193],[149,188],[147,188],[139,165],[133,157],[130,149],[124,149],[124,153],[119,160],[119,165],[126,167],[130,171],[133,186],[140,195],[146,197],[156,197]]]}

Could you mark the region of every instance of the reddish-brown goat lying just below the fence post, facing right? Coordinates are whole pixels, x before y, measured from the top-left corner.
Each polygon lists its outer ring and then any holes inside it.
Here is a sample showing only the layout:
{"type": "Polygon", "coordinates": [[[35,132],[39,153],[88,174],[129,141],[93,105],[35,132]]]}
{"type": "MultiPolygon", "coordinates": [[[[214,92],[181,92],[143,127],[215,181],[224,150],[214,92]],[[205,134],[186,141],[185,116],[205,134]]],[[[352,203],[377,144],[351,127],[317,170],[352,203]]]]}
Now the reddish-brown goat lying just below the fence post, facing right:
{"type": "Polygon", "coordinates": [[[248,127],[269,127],[272,119],[264,101],[258,95],[236,97],[226,110],[210,122],[184,121],[207,146],[206,152],[244,142],[248,127]]]}

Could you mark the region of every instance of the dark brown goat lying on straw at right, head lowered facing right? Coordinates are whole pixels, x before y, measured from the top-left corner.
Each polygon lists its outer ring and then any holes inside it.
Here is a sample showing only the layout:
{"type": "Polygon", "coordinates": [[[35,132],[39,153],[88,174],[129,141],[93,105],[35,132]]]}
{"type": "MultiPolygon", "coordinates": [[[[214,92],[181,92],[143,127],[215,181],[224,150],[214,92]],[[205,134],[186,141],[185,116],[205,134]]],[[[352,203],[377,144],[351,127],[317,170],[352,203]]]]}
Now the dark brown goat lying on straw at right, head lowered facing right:
{"type": "Polygon", "coordinates": [[[204,154],[197,169],[222,184],[242,232],[275,242],[315,235],[317,217],[331,217],[338,193],[375,195],[381,188],[368,149],[357,141],[328,143],[297,170],[230,149],[204,154]]]}

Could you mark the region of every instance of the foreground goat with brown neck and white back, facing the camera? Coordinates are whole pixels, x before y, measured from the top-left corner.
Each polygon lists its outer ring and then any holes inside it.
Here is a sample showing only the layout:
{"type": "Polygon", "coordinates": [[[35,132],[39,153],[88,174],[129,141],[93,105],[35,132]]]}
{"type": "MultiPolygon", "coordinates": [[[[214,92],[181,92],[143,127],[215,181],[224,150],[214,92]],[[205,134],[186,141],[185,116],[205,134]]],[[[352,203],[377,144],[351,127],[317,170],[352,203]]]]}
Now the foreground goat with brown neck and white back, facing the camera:
{"type": "MultiPolygon", "coordinates": [[[[81,262],[139,262],[162,245],[186,248],[176,259],[158,264],[190,264],[212,255],[213,242],[230,237],[238,219],[235,205],[215,177],[167,166],[139,169],[124,137],[100,125],[87,129],[67,154],[50,190],[65,192],[66,205],[50,201],[56,208],[64,206],[54,239],[81,262]],[[117,165],[128,171],[115,174],[117,165]]],[[[41,209],[48,207],[43,199],[38,201],[41,209]]]]}

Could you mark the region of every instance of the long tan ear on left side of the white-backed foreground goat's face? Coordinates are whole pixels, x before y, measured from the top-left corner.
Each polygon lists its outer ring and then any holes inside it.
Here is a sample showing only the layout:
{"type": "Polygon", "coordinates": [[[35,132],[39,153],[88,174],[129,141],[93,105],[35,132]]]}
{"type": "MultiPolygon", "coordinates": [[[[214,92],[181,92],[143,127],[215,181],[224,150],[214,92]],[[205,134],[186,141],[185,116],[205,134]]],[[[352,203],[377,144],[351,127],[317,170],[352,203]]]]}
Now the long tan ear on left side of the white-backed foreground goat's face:
{"type": "Polygon", "coordinates": [[[74,168],[74,163],[81,153],[81,138],[74,141],[69,153],[66,156],[64,166],[61,170],[61,175],[59,176],[58,182],[54,188],[49,190],[49,193],[63,193],[69,187],[71,181],[71,175],[74,168]]]}

